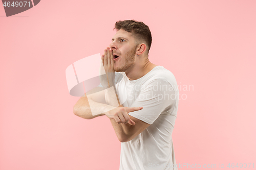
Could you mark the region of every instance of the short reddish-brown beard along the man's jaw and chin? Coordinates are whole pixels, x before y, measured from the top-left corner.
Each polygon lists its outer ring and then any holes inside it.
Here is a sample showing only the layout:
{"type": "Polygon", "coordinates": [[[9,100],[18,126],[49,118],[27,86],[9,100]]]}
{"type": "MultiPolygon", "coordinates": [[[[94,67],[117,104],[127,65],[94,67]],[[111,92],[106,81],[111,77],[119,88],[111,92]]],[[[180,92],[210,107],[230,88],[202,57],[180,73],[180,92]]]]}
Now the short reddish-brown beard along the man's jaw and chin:
{"type": "Polygon", "coordinates": [[[134,60],[135,60],[135,54],[136,54],[136,48],[137,45],[134,46],[129,52],[127,52],[124,56],[124,65],[120,67],[115,67],[114,66],[114,71],[116,72],[124,72],[127,69],[131,69],[134,65],[134,60]]]}

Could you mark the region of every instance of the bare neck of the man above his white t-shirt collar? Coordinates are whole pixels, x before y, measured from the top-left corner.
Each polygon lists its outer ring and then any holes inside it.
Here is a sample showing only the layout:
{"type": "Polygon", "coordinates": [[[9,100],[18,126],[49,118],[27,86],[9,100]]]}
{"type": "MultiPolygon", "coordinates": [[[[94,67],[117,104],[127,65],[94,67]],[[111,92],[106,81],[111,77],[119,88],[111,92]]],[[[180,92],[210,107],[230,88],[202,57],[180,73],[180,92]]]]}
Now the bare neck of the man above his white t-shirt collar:
{"type": "Polygon", "coordinates": [[[150,62],[147,58],[145,62],[140,65],[134,65],[131,70],[125,71],[126,77],[129,80],[137,80],[143,76],[145,76],[148,72],[150,72],[157,65],[150,62]]]}

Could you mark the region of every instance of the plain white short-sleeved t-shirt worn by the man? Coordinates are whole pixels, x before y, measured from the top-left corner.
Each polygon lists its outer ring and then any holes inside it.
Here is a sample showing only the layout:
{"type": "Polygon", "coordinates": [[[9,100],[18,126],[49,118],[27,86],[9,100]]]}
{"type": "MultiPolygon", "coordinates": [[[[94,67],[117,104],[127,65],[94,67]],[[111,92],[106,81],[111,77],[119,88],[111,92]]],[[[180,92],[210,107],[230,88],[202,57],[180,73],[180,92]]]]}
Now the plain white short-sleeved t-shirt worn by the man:
{"type": "Polygon", "coordinates": [[[120,103],[124,107],[143,107],[129,115],[151,124],[134,139],[121,143],[119,170],[177,169],[173,165],[172,132],[179,90],[174,75],[162,66],[132,81],[125,72],[118,73],[115,87],[120,103]]]}

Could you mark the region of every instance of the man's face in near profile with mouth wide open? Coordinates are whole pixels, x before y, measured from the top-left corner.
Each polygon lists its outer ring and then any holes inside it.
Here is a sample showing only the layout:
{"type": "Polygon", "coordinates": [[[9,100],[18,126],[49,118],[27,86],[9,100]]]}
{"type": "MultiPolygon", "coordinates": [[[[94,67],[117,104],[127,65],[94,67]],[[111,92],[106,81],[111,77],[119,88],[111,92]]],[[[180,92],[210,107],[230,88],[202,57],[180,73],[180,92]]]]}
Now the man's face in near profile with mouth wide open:
{"type": "Polygon", "coordinates": [[[113,50],[114,71],[125,72],[129,68],[132,69],[135,64],[137,44],[131,33],[118,30],[113,36],[110,48],[113,50]]]}

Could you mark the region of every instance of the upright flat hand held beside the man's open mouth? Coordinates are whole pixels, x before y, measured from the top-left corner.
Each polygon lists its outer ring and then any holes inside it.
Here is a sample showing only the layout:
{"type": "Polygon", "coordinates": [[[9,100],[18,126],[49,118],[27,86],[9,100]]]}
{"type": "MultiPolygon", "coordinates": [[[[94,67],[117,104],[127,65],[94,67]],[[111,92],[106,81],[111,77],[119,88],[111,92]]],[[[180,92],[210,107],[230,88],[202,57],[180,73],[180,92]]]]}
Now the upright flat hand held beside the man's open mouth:
{"type": "Polygon", "coordinates": [[[104,51],[104,55],[101,56],[102,65],[100,67],[100,83],[104,88],[114,86],[115,71],[113,51],[107,47],[104,51]],[[104,74],[105,71],[105,74],[104,74]]]}

